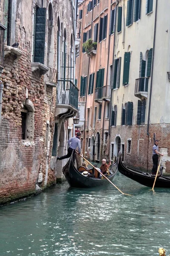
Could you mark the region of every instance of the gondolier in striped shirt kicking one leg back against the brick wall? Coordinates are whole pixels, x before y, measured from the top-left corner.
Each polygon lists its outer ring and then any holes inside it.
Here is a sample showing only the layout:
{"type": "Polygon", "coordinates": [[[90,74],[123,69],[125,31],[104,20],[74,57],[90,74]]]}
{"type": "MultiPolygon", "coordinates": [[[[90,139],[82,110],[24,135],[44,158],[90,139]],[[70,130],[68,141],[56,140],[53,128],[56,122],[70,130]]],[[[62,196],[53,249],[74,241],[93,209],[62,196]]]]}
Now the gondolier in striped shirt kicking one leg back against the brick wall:
{"type": "Polygon", "coordinates": [[[75,149],[78,147],[78,153],[79,154],[81,153],[80,137],[81,137],[81,132],[78,131],[76,137],[72,137],[70,140],[67,141],[67,143],[69,144],[68,154],[66,154],[63,157],[57,157],[57,159],[58,160],[63,160],[65,158],[69,158],[69,157],[71,157],[72,151],[73,151],[73,162],[75,163],[75,149]]]}

